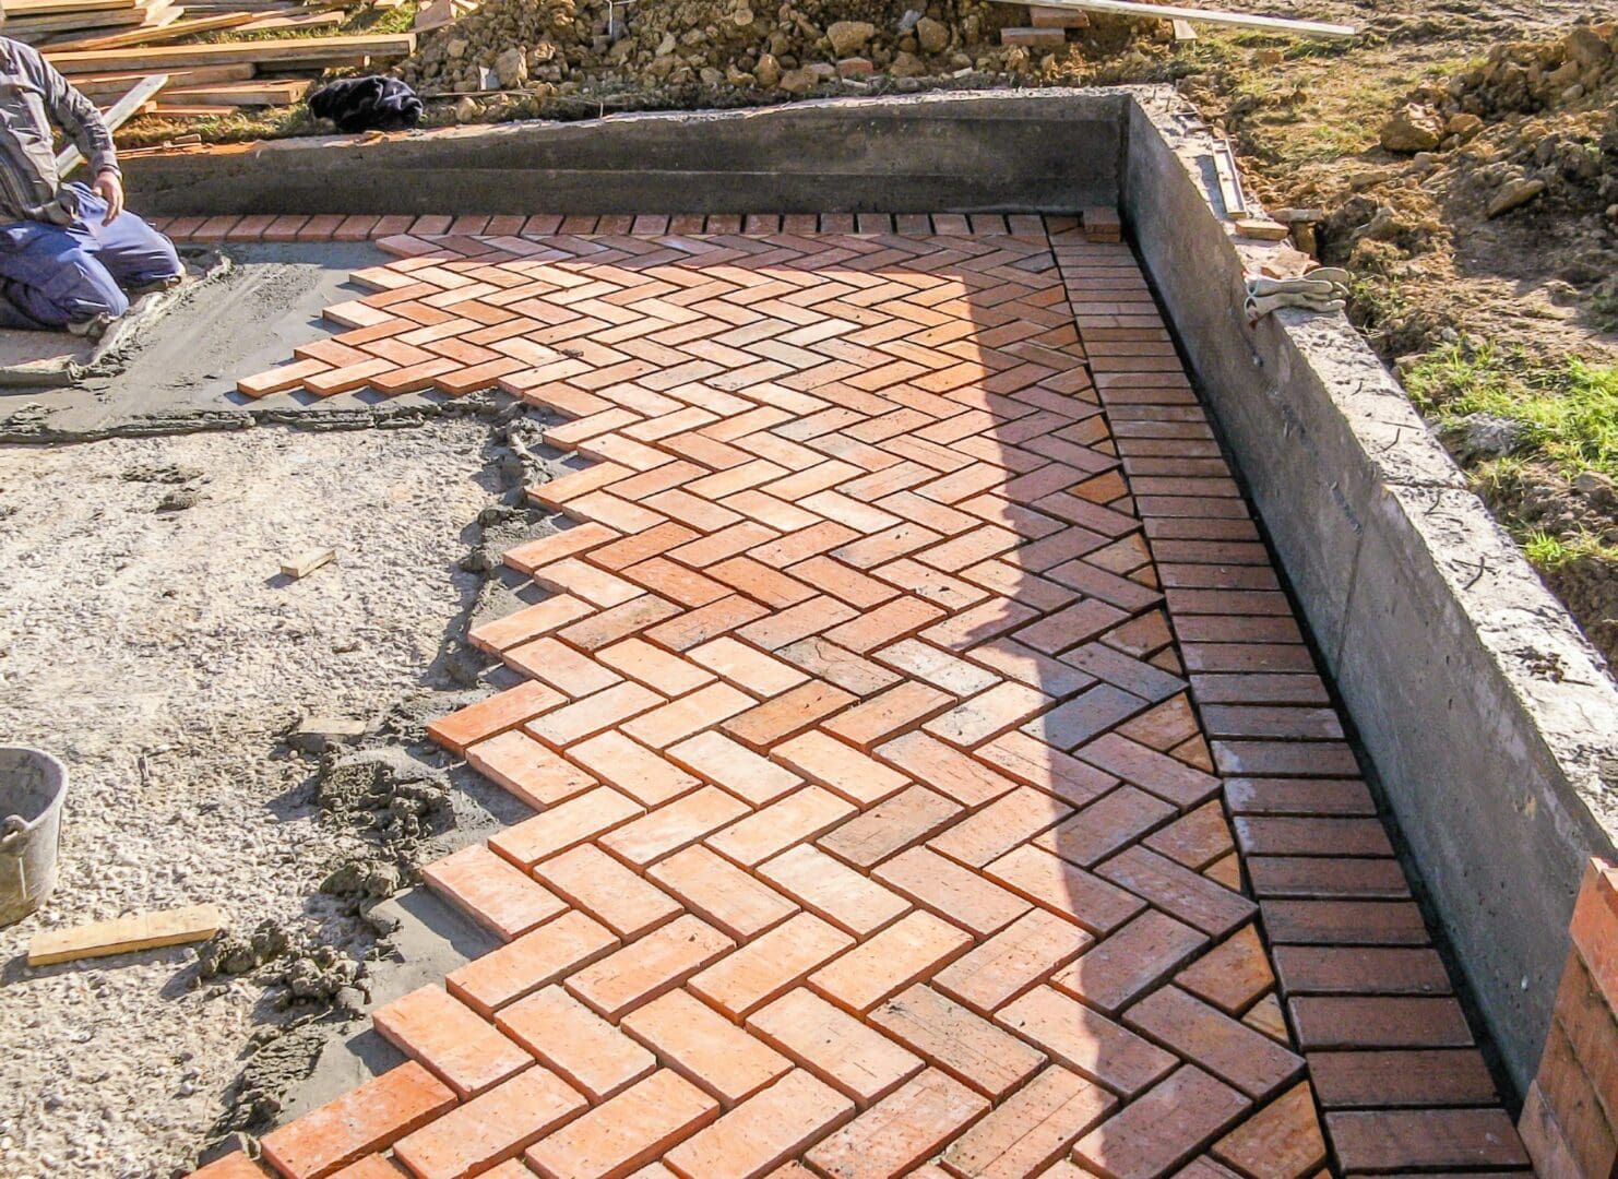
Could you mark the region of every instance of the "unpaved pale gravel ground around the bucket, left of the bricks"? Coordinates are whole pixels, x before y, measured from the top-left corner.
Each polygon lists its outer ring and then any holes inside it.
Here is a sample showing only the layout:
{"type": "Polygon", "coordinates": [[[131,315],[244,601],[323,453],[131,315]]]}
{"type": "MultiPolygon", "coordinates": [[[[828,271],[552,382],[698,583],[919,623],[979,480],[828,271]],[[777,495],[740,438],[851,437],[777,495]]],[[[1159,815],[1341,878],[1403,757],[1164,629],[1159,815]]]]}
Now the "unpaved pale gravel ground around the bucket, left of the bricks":
{"type": "Polygon", "coordinates": [[[0,930],[5,1179],[170,1176],[210,1137],[264,990],[199,987],[189,948],[36,970],[28,941],[204,901],[243,932],[348,920],[316,888],[358,838],[280,737],[447,686],[487,440],[438,419],[0,450],[0,742],[71,775],[57,893],[0,930]],[[319,545],[337,564],[278,576],[319,545]]]}

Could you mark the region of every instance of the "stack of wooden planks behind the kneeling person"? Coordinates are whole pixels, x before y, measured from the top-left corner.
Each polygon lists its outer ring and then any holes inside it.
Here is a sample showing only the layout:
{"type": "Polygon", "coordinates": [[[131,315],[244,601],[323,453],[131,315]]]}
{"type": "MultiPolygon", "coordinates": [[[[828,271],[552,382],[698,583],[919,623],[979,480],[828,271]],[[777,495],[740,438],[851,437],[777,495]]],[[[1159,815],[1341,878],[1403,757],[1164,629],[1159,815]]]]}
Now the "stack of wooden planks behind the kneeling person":
{"type": "Polygon", "coordinates": [[[228,115],[286,107],[327,70],[380,68],[408,57],[416,37],[335,34],[346,8],[393,8],[403,0],[0,0],[0,34],[34,44],[97,105],[142,78],[168,84],[141,113],[228,115]],[[306,34],[311,29],[317,36],[306,34]],[[239,37],[238,34],[291,34],[239,37]],[[223,40],[197,42],[210,34],[223,40]]]}

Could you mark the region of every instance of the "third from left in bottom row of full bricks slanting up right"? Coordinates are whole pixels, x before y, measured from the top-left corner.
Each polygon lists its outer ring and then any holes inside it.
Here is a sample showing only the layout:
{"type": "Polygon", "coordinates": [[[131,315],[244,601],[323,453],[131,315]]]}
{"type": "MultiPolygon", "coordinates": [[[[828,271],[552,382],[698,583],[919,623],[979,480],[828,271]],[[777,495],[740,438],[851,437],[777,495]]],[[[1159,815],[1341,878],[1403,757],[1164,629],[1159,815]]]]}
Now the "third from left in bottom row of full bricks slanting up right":
{"type": "Polygon", "coordinates": [[[545,1179],[615,1179],[718,1116],[718,1101],[670,1069],[626,1088],[527,1148],[545,1179]]]}

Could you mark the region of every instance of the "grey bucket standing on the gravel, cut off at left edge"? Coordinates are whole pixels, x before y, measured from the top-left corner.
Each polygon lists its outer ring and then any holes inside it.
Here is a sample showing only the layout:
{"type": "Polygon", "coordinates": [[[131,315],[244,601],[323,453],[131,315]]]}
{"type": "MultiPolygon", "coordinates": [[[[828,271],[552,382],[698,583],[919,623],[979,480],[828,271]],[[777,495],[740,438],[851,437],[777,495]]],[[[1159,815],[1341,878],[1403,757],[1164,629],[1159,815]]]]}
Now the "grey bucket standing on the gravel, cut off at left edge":
{"type": "Polygon", "coordinates": [[[57,886],[68,771],[50,754],[0,746],[0,925],[34,912],[57,886]]]}

